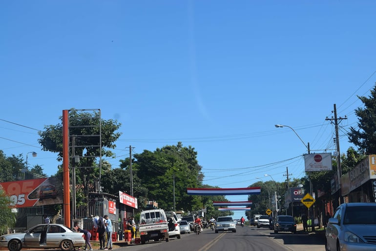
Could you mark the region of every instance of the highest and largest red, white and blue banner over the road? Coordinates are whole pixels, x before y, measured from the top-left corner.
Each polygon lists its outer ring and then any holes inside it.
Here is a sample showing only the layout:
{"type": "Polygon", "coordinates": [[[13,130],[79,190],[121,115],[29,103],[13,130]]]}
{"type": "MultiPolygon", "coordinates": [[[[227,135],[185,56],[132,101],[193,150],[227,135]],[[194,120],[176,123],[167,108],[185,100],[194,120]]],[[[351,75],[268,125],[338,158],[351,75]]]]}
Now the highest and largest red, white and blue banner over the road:
{"type": "Polygon", "coordinates": [[[188,195],[242,195],[260,194],[261,187],[246,188],[187,188],[188,195]]]}

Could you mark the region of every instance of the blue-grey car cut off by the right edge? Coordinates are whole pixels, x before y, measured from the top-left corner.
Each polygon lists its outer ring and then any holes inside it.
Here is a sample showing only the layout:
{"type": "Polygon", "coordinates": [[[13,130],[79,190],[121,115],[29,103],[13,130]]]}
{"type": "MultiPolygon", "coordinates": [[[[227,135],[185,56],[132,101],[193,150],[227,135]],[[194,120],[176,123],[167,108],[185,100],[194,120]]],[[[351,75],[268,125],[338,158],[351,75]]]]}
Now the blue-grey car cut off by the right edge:
{"type": "Polygon", "coordinates": [[[376,203],[344,203],[334,212],[325,232],[327,251],[376,249],[376,203]]]}

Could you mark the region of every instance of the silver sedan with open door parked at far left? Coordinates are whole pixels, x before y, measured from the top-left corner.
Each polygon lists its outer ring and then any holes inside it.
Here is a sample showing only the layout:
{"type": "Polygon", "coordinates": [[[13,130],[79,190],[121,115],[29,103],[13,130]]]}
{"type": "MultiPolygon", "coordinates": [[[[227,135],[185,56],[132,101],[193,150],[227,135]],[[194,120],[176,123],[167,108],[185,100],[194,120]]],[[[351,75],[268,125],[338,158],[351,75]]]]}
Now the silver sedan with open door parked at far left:
{"type": "Polygon", "coordinates": [[[0,236],[0,247],[9,251],[23,248],[73,250],[85,245],[84,233],[74,232],[62,224],[39,224],[25,232],[0,236]]]}

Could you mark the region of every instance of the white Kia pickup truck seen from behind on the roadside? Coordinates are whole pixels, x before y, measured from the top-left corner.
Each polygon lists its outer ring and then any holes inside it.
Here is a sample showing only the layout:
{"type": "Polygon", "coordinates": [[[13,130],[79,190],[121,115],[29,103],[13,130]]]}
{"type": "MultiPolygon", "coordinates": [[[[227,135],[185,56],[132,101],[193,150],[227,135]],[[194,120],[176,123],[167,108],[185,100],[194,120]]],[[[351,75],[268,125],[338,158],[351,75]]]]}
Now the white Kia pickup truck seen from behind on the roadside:
{"type": "Polygon", "coordinates": [[[166,213],[163,209],[151,209],[141,212],[140,215],[141,243],[165,239],[168,241],[168,223],[166,213]]]}

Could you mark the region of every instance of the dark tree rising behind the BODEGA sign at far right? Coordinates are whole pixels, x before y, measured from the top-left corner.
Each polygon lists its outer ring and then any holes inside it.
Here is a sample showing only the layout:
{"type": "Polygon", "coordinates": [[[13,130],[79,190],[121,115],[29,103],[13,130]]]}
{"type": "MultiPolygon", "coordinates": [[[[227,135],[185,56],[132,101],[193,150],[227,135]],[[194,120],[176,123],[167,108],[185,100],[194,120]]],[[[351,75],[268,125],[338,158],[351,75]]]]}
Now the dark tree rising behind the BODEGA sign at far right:
{"type": "Polygon", "coordinates": [[[364,108],[355,110],[358,129],[350,127],[349,142],[365,154],[376,154],[376,86],[369,97],[359,97],[364,108]]]}

